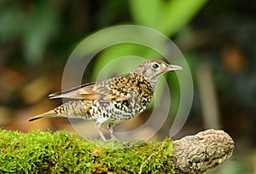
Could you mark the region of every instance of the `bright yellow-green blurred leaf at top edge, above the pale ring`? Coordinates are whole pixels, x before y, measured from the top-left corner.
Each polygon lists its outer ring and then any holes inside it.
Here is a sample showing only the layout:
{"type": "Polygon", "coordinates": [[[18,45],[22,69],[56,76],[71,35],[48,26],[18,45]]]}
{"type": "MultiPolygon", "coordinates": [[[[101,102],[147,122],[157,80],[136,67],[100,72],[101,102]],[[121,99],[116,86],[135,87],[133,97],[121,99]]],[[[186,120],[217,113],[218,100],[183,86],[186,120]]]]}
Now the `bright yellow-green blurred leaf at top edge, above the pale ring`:
{"type": "Polygon", "coordinates": [[[138,25],[152,27],[172,36],[187,24],[207,0],[131,0],[131,15],[138,25]]]}

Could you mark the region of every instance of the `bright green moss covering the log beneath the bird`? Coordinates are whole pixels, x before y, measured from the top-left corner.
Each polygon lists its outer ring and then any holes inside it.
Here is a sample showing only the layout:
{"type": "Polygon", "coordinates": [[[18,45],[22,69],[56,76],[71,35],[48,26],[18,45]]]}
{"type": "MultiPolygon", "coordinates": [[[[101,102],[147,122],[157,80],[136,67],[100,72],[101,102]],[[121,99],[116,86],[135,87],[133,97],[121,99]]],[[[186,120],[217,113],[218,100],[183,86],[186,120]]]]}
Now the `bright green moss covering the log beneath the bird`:
{"type": "Polygon", "coordinates": [[[172,140],[85,140],[67,131],[0,130],[0,172],[173,173],[172,140]]]}

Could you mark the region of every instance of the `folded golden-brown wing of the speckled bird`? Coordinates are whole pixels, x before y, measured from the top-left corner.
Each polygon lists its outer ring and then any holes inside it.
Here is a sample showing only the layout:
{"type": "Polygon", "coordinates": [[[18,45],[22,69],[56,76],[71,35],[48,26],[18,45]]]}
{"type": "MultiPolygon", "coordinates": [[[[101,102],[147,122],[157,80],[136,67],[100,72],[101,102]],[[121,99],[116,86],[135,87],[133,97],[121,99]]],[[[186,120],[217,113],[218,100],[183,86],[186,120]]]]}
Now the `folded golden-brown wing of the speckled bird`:
{"type": "Polygon", "coordinates": [[[122,85],[114,86],[109,83],[103,84],[83,84],[81,86],[75,87],[71,90],[64,90],[62,92],[56,92],[49,95],[50,99],[55,98],[67,98],[67,99],[82,99],[87,101],[100,100],[100,101],[125,101],[131,98],[131,96],[136,96],[137,93],[132,91],[131,93],[124,92],[121,89],[122,85]]]}

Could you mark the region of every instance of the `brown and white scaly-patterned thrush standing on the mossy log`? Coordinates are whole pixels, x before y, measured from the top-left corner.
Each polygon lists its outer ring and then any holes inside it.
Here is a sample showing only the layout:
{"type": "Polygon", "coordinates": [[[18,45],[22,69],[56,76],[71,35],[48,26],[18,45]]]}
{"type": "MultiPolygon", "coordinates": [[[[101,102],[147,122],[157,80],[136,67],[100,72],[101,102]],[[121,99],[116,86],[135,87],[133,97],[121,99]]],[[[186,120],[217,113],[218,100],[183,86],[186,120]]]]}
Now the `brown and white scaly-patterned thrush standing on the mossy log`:
{"type": "Polygon", "coordinates": [[[113,135],[113,127],[134,118],[148,107],[160,75],[182,69],[165,61],[143,61],[131,73],[123,76],[50,94],[49,99],[62,98],[68,101],[28,121],[54,117],[92,120],[96,123],[96,130],[102,140],[107,140],[102,131],[117,140],[113,135]]]}

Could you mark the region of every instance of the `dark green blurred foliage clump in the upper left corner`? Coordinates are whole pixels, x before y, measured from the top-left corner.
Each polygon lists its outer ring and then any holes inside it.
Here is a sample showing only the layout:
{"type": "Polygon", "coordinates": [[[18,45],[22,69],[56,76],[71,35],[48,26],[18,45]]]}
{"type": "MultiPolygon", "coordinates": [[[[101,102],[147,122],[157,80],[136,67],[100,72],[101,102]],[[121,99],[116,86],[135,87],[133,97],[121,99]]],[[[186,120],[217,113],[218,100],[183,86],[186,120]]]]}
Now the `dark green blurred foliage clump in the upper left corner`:
{"type": "Polygon", "coordinates": [[[54,7],[48,1],[36,3],[30,11],[20,8],[18,3],[5,5],[9,8],[3,9],[0,14],[0,43],[20,38],[26,61],[40,61],[56,32],[54,7]]]}

